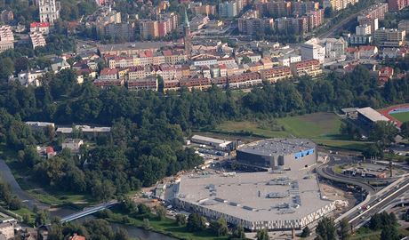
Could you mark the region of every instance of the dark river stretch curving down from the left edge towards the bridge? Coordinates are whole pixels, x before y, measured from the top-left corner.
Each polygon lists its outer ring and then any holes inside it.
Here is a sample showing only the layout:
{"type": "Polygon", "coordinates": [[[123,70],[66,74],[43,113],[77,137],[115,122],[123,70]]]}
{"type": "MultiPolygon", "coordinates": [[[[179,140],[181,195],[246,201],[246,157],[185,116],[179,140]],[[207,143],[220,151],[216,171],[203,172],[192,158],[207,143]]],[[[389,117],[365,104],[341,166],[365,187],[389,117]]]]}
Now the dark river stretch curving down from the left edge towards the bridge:
{"type": "Polygon", "coordinates": [[[3,159],[0,159],[0,176],[10,185],[12,188],[12,193],[18,196],[23,204],[26,204],[28,208],[32,209],[34,205],[36,205],[39,209],[46,209],[49,207],[47,204],[38,202],[34,197],[29,196],[26,191],[20,188],[19,183],[12,175],[12,170],[10,170],[9,166],[5,164],[3,159]]]}

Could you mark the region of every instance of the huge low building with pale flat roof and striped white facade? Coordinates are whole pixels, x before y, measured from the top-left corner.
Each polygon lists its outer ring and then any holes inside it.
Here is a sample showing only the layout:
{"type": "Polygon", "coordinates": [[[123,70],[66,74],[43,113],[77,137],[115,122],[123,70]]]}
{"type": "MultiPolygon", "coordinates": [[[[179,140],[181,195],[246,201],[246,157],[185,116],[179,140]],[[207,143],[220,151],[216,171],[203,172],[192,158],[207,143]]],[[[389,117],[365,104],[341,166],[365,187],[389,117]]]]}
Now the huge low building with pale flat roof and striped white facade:
{"type": "Polygon", "coordinates": [[[248,230],[301,229],[335,209],[307,170],[186,175],[170,190],[173,203],[248,230]]]}

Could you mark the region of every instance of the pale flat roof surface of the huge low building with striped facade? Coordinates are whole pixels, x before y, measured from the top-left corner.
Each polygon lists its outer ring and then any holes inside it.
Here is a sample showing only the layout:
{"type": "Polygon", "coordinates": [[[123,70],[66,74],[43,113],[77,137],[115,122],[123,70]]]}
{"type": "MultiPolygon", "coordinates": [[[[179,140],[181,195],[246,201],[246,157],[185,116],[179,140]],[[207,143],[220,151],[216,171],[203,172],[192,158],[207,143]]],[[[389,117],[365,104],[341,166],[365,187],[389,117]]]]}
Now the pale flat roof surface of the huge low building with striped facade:
{"type": "Polygon", "coordinates": [[[249,221],[300,220],[330,204],[321,199],[317,176],[307,171],[189,175],[180,180],[180,200],[249,221]],[[289,185],[269,185],[288,177],[289,185]],[[274,197],[276,196],[276,197],[274,197]],[[298,206],[297,206],[298,205],[298,206]]]}

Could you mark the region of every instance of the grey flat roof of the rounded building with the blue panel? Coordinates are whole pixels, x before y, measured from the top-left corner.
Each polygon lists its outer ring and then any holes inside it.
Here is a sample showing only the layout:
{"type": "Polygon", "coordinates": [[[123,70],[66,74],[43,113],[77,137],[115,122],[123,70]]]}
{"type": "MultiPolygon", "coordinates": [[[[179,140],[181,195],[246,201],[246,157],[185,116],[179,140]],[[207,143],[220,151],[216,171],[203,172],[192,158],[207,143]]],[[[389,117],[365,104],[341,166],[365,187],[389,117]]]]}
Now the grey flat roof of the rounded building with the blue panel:
{"type": "Polygon", "coordinates": [[[316,144],[307,139],[269,139],[246,144],[238,151],[262,156],[285,156],[315,147],[316,144]]]}

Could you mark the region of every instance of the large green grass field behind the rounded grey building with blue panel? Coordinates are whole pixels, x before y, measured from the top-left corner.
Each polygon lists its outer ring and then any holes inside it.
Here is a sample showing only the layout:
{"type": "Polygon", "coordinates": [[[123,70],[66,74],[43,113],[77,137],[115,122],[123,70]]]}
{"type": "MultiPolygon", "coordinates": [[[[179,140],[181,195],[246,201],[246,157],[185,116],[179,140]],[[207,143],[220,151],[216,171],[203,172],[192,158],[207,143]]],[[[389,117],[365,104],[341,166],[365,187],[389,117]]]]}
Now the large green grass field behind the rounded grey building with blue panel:
{"type": "Polygon", "coordinates": [[[228,121],[218,125],[214,132],[253,135],[261,138],[309,138],[323,146],[360,151],[366,147],[365,142],[346,140],[341,135],[340,127],[339,116],[333,113],[314,113],[270,121],[228,121]]]}

